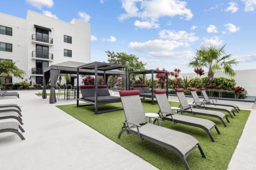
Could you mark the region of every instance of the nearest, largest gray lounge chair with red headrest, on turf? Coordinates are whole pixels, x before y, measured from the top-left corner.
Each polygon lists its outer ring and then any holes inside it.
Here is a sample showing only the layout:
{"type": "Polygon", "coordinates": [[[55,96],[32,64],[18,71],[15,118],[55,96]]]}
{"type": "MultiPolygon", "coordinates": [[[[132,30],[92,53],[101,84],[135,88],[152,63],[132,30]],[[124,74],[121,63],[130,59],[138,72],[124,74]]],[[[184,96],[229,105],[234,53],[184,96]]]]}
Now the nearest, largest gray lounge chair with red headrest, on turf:
{"type": "Polygon", "coordinates": [[[190,169],[186,157],[197,147],[201,155],[206,157],[199,141],[193,136],[169,128],[148,123],[140,99],[139,90],[119,91],[126,121],[123,122],[121,131],[135,134],[139,138],[149,140],[167,149],[174,151],[183,161],[186,169],[190,169]],[[134,127],[134,128],[132,128],[134,127]]]}

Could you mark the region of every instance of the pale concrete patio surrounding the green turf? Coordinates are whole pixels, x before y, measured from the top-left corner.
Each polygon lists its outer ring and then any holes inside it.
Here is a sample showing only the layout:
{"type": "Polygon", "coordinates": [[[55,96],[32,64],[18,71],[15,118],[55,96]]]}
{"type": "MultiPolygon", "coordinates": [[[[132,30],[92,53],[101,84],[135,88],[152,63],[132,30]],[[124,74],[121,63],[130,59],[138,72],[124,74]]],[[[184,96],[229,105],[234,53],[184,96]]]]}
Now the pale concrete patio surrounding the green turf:
{"type": "MultiPolygon", "coordinates": [[[[0,133],[0,169],[157,169],[55,106],[76,100],[61,97],[49,104],[49,97],[35,95],[41,90],[18,92],[20,99],[1,98],[0,103],[22,106],[26,140],[14,133],[0,133]]],[[[178,100],[175,96],[169,99],[178,100]]],[[[236,104],[251,114],[228,168],[256,169],[256,104],[236,104]]]]}

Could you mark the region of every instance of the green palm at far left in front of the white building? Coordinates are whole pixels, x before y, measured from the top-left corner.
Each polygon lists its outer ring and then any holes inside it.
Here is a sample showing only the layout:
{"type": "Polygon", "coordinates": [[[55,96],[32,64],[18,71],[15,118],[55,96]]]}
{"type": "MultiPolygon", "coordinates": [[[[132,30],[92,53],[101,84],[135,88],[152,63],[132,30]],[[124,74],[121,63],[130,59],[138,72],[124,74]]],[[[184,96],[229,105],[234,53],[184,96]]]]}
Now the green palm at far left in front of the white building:
{"type": "Polygon", "coordinates": [[[25,74],[25,71],[18,68],[15,65],[15,62],[12,60],[2,60],[0,61],[0,75],[5,77],[6,83],[9,82],[10,77],[19,77],[22,78],[22,76],[25,74]]]}

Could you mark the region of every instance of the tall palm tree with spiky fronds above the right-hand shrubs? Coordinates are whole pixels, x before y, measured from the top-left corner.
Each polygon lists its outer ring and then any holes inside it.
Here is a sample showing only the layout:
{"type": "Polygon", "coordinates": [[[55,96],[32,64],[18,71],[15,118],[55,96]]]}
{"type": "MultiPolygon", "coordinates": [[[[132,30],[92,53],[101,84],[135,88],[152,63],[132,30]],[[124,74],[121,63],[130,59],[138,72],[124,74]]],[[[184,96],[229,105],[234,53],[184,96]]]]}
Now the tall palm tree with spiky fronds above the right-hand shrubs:
{"type": "Polygon", "coordinates": [[[208,84],[212,84],[212,80],[214,77],[214,71],[223,70],[225,74],[229,76],[234,76],[236,73],[232,68],[232,65],[236,65],[238,61],[235,59],[230,59],[231,54],[225,53],[223,45],[220,48],[217,48],[215,45],[210,44],[209,47],[205,47],[204,45],[200,46],[199,50],[196,50],[196,56],[193,57],[189,62],[189,66],[191,67],[206,67],[208,68],[208,84]]]}

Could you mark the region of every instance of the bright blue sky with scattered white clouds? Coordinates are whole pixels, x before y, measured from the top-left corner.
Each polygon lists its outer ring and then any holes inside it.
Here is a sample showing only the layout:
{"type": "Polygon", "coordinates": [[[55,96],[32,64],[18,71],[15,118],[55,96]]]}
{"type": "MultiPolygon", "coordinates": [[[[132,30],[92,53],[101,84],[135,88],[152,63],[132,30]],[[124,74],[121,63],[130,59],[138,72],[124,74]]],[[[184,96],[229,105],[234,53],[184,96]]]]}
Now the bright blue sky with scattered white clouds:
{"type": "MultiPolygon", "coordinates": [[[[214,44],[256,68],[256,0],[3,0],[0,12],[21,18],[27,10],[91,24],[91,61],[107,62],[107,50],[135,54],[147,69],[181,73],[200,45],[214,44]]],[[[206,69],[207,71],[207,69],[206,69]]]]}

